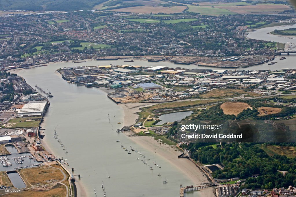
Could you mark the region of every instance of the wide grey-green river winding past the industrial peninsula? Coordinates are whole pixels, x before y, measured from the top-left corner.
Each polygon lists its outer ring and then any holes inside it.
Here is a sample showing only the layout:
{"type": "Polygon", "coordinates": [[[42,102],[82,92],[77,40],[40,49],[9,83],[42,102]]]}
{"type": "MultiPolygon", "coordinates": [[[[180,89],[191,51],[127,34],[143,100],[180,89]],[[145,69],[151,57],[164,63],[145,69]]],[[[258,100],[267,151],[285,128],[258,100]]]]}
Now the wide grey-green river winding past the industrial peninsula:
{"type": "MultiPolygon", "coordinates": [[[[264,32],[270,31],[270,28],[258,31],[252,32],[250,37],[260,39],[264,32]]],[[[290,41],[282,40],[280,42],[290,41]]],[[[286,57],[286,60],[278,60],[279,56],[277,56],[275,61],[278,63],[270,65],[270,69],[296,68],[296,56],[286,57]]],[[[56,72],[61,67],[109,64],[120,65],[126,64],[126,62],[123,60],[88,61],[75,64],[62,62],[17,71],[18,75],[22,76],[32,87],[38,84],[54,95],[53,98],[50,98],[50,107],[42,124],[42,127],[46,128],[44,140],[53,154],[67,159],[69,170],[74,167],[74,175],[81,174],[81,180],[78,180],[77,176],[75,179],[82,183],[87,196],[95,196],[93,192],[95,187],[97,195],[103,196],[100,191],[102,181],[107,196],[178,196],[180,184],[192,185],[192,182],[169,162],[153,152],[145,150],[140,145],[134,144],[123,133],[115,132],[117,128],[121,127],[117,123],[123,122],[123,110],[108,99],[106,93],[100,89],[69,84],[56,72]],[[108,114],[111,123],[108,122],[108,114]],[[63,147],[53,138],[54,127],[57,127],[59,139],[67,148],[68,153],[65,153],[65,150],[62,150],[63,147]],[[120,142],[116,142],[116,140],[120,140],[120,142]],[[140,159],[136,159],[139,154],[135,152],[127,154],[120,148],[120,144],[124,144],[128,148],[129,145],[132,145],[134,149],[143,152],[146,158],[156,160],[162,168],[155,167],[155,170],[149,170],[148,165],[143,164],[140,159]],[[161,174],[161,177],[157,176],[158,173],[161,174]],[[165,177],[168,184],[162,183],[165,177]]],[[[129,64],[189,69],[197,67],[196,65],[178,65],[170,62],[154,63],[140,60],[129,64]]],[[[198,68],[217,69],[204,66],[198,68]]],[[[268,69],[268,65],[262,64],[247,69],[268,69]]],[[[13,72],[15,71],[11,71],[11,73],[13,72]]],[[[194,196],[198,195],[198,192],[194,193],[194,196]]],[[[80,196],[79,193],[78,196],[80,196]]],[[[193,194],[186,196],[193,196],[193,194]]]]}

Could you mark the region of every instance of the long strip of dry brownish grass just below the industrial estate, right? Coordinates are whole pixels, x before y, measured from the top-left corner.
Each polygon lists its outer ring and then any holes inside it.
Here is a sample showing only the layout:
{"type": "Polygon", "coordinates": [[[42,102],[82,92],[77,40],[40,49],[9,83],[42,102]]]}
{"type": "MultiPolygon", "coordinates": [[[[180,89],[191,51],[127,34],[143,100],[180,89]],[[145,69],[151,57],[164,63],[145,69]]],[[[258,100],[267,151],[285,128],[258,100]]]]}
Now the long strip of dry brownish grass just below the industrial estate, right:
{"type": "Polygon", "coordinates": [[[210,98],[232,98],[240,95],[246,94],[246,97],[258,97],[260,94],[256,94],[253,92],[245,92],[241,89],[213,89],[210,92],[206,92],[201,94],[200,97],[204,99],[210,98]]]}

